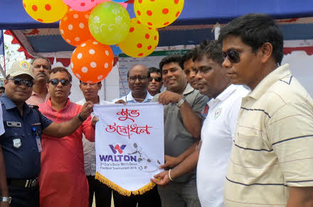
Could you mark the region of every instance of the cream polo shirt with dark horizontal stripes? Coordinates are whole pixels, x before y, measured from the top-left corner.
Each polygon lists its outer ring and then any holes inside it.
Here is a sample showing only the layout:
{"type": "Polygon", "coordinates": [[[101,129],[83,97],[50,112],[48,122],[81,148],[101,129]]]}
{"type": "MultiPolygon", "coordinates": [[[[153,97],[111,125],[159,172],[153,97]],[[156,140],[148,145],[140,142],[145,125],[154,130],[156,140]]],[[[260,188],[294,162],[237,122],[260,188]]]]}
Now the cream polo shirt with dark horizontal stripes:
{"type": "Polygon", "coordinates": [[[289,186],[313,186],[313,100],[286,64],[243,98],[224,203],[286,206],[289,186]]]}

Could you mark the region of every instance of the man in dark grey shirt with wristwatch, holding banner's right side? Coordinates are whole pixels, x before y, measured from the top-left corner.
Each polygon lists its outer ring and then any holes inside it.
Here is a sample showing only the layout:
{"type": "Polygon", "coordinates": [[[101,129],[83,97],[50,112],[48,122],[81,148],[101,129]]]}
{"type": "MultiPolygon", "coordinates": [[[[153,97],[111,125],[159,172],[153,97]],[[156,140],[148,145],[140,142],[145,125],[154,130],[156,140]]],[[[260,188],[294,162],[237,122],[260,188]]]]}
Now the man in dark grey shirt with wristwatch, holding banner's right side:
{"type": "MultiPolygon", "coordinates": [[[[161,60],[159,66],[166,90],[153,99],[164,104],[165,164],[163,167],[166,169],[176,165],[171,162],[172,157],[185,155],[185,150],[200,139],[201,111],[208,101],[208,97],[201,95],[188,84],[180,63],[180,55],[169,55],[161,60]]],[[[184,156],[181,158],[184,159],[184,156]]],[[[158,187],[158,191],[163,207],[201,206],[194,171],[175,179],[167,186],[158,187]]]]}

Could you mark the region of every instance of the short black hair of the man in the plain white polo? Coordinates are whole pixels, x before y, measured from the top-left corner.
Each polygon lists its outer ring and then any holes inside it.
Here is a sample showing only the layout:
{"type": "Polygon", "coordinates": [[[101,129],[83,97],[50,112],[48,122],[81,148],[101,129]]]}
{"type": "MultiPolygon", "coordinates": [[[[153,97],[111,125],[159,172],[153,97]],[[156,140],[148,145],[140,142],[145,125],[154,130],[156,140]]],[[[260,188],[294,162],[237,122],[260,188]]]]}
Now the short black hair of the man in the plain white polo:
{"type": "Polygon", "coordinates": [[[201,60],[203,56],[208,57],[209,59],[217,62],[219,65],[222,65],[224,62],[222,44],[218,40],[204,40],[193,53],[193,62],[196,60],[201,60]]]}

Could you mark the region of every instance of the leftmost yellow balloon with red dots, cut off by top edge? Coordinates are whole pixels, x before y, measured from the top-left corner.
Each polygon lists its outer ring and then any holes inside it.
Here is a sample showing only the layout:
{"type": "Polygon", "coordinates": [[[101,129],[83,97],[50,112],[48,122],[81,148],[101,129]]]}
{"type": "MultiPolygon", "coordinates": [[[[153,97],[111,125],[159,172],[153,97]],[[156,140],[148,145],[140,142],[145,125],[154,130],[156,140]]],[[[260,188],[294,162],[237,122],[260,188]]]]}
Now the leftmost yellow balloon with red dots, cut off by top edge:
{"type": "Polygon", "coordinates": [[[43,23],[58,21],[68,11],[62,0],[23,0],[23,6],[31,18],[43,23]]]}

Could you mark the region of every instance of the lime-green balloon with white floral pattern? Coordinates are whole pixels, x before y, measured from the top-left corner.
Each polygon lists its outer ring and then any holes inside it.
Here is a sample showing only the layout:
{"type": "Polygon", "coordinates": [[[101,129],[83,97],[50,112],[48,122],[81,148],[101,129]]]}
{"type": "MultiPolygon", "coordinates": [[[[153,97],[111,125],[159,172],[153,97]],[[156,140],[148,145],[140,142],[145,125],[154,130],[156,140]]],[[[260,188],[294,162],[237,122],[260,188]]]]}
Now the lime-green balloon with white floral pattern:
{"type": "Polygon", "coordinates": [[[124,40],[129,31],[129,24],[127,10],[114,2],[102,2],[90,13],[90,33],[95,40],[105,45],[115,45],[124,40]]]}

